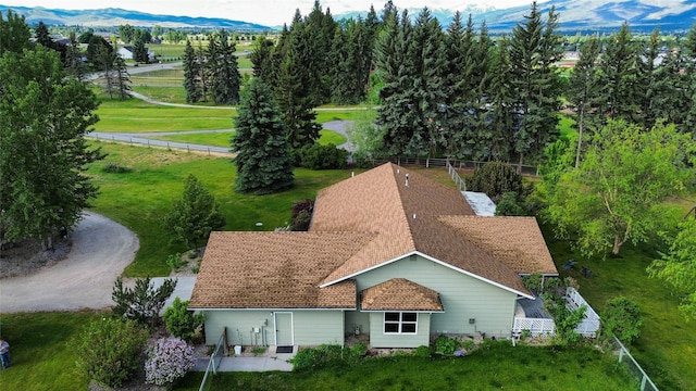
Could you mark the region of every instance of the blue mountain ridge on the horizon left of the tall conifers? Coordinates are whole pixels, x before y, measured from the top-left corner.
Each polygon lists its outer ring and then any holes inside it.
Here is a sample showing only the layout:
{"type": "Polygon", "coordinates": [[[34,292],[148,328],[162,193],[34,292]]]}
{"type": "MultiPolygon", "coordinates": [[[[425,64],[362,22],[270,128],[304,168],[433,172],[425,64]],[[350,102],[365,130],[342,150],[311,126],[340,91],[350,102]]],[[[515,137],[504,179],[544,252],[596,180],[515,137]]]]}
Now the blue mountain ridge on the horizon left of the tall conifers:
{"type": "Polygon", "coordinates": [[[46,8],[8,7],[0,4],[0,11],[5,13],[8,9],[12,12],[24,15],[30,25],[44,22],[47,25],[86,26],[86,27],[111,27],[129,24],[138,27],[207,27],[226,28],[241,31],[265,31],[272,29],[259,24],[231,21],[217,17],[190,17],[172,15],[153,15],[137,11],[122,9],[100,9],[100,10],[49,10],[46,8]]]}

